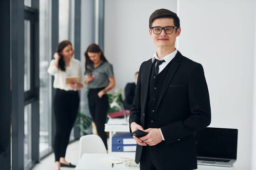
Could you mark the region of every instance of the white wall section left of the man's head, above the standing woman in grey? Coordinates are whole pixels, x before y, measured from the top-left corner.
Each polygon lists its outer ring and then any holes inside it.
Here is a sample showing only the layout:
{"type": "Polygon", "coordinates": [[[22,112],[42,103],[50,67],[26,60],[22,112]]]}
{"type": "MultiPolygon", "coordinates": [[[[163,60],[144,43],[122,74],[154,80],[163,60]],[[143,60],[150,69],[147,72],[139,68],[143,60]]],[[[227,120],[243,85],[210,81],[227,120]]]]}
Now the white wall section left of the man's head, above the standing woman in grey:
{"type": "Polygon", "coordinates": [[[104,54],[114,65],[116,88],[134,82],[140,64],[156,51],[148,20],[158,8],[177,12],[176,0],[105,0],[104,54]]]}

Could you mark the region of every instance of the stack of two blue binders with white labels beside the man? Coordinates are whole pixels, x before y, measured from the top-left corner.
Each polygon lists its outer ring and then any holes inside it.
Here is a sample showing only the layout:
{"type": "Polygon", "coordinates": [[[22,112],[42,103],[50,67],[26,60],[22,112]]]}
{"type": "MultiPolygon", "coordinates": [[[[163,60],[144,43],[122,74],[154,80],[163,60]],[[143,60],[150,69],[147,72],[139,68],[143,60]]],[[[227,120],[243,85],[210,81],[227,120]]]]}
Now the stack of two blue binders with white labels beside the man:
{"type": "Polygon", "coordinates": [[[118,133],[112,137],[112,152],[135,152],[136,140],[130,133],[118,133]]]}

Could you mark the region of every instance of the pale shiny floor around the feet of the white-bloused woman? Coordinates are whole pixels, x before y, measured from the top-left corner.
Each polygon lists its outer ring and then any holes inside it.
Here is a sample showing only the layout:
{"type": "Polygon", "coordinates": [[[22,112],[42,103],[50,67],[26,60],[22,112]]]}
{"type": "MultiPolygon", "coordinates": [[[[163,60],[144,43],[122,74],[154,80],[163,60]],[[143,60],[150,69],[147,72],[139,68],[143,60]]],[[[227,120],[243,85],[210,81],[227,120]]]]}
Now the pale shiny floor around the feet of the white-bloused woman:
{"type": "MultiPolygon", "coordinates": [[[[72,142],[68,145],[66,151],[66,160],[71,162],[72,164],[78,164],[78,154],[79,154],[79,140],[72,142]]],[[[62,168],[61,170],[74,170],[75,168],[62,168]]],[[[55,170],[55,163],[54,163],[54,154],[50,154],[49,156],[45,157],[40,161],[39,164],[32,170],[55,170]]]]}

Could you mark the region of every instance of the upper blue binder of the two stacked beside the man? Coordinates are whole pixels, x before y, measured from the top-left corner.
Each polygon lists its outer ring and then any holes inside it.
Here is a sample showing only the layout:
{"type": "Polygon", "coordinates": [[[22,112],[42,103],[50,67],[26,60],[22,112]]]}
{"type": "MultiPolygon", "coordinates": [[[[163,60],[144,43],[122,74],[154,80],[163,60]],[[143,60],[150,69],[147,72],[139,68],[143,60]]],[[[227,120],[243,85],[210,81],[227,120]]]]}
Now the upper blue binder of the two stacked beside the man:
{"type": "Polygon", "coordinates": [[[130,133],[114,134],[112,137],[112,145],[136,145],[136,140],[130,133]]]}

